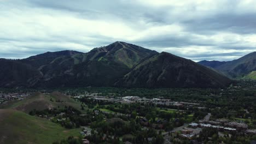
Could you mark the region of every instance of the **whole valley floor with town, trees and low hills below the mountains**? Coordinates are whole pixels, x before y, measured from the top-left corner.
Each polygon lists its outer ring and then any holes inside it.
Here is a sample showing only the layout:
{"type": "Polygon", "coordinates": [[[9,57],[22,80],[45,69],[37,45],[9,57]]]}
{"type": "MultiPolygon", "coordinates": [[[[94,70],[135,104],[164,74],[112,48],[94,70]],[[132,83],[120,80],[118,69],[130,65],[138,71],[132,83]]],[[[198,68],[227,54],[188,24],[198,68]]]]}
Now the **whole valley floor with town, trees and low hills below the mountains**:
{"type": "MultiPolygon", "coordinates": [[[[4,137],[19,135],[19,130],[8,133],[4,125],[14,130],[26,129],[24,133],[28,135],[32,128],[55,127],[51,139],[38,142],[34,135],[24,143],[233,143],[241,140],[249,143],[255,139],[255,85],[253,81],[241,81],[238,86],[224,89],[2,89],[2,95],[10,95],[12,91],[31,95],[6,99],[0,105],[4,117],[0,133],[4,134],[2,141],[7,141],[11,139],[4,137]],[[26,123],[15,124],[15,117],[31,123],[31,128],[26,123]]],[[[44,133],[40,136],[50,137],[44,133]]]]}

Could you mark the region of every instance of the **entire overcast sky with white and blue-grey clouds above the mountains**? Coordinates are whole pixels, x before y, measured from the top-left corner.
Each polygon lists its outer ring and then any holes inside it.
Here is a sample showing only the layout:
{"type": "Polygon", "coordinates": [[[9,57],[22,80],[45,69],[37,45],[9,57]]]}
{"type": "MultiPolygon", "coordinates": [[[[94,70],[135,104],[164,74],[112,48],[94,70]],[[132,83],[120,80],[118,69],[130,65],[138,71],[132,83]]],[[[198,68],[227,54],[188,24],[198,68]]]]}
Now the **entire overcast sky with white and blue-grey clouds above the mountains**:
{"type": "Polygon", "coordinates": [[[255,0],[0,0],[0,57],[115,41],[193,61],[256,51],[255,0]]]}

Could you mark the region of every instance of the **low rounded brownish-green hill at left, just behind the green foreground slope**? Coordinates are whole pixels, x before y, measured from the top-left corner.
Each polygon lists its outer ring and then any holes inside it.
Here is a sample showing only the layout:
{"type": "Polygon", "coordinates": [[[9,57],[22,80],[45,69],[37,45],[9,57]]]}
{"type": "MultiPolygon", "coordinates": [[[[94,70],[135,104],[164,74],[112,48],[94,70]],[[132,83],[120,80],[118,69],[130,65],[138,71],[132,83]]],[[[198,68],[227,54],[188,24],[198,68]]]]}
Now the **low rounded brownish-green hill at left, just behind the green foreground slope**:
{"type": "Polygon", "coordinates": [[[45,110],[65,106],[72,106],[77,110],[81,109],[77,101],[59,92],[50,94],[34,93],[24,100],[9,101],[9,103],[1,107],[2,109],[14,109],[28,113],[33,109],[45,110]]]}

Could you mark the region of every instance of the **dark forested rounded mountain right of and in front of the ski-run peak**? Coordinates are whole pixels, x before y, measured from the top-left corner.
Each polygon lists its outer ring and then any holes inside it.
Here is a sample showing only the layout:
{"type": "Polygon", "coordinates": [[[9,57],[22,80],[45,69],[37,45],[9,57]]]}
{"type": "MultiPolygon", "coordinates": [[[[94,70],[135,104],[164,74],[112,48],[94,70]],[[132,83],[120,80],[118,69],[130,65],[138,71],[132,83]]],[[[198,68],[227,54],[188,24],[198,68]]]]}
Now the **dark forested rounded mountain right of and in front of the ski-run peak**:
{"type": "Polygon", "coordinates": [[[136,65],[117,84],[124,87],[225,87],[230,80],[185,58],[161,52],[136,65]]]}

